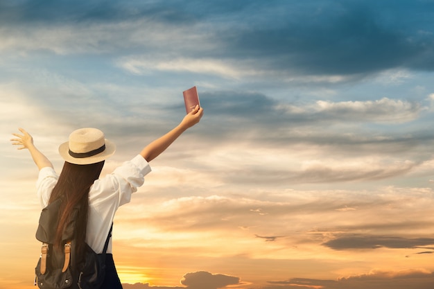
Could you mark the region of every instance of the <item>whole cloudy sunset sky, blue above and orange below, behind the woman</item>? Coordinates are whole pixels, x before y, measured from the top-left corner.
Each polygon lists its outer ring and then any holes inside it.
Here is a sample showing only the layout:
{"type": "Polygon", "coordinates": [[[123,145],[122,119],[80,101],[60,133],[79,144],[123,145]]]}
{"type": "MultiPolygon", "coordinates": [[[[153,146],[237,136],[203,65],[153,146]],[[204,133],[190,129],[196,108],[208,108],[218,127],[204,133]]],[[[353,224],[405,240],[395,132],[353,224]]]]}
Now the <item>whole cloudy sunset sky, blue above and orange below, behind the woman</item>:
{"type": "Polygon", "coordinates": [[[0,289],[34,288],[37,168],[103,175],[184,117],[114,220],[125,289],[431,289],[434,1],[0,0],[0,289]]]}

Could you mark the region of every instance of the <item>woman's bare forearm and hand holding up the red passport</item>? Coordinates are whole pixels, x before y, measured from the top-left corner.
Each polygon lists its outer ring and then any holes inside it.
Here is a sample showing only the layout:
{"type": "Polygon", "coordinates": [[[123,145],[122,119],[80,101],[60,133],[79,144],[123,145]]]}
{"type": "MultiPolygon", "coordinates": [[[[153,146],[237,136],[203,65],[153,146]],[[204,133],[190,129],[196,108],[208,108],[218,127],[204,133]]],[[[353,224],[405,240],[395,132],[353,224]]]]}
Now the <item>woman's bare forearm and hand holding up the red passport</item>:
{"type": "Polygon", "coordinates": [[[159,137],[159,139],[149,143],[148,146],[141,150],[140,155],[144,157],[146,161],[152,161],[155,159],[155,157],[164,152],[164,150],[166,150],[166,148],[168,148],[173,141],[175,141],[175,139],[180,137],[183,132],[185,132],[188,128],[191,128],[193,125],[196,125],[196,123],[200,121],[202,115],[202,107],[199,108],[199,106],[196,105],[196,108],[184,116],[184,119],[182,119],[176,128],[173,128],[173,130],[164,134],[164,136],[159,137]]]}

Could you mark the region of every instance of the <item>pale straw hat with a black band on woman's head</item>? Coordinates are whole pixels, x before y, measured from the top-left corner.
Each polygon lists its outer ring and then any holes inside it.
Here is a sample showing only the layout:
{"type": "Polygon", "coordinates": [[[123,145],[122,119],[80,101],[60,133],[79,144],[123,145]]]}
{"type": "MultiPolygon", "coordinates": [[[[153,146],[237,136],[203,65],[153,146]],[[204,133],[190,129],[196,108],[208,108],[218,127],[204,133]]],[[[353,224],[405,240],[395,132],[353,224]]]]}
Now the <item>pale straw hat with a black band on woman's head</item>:
{"type": "Polygon", "coordinates": [[[96,164],[114,154],[116,145],[96,128],[80,128],[59,146],[63,159],[71,164],[96,164]]]}

